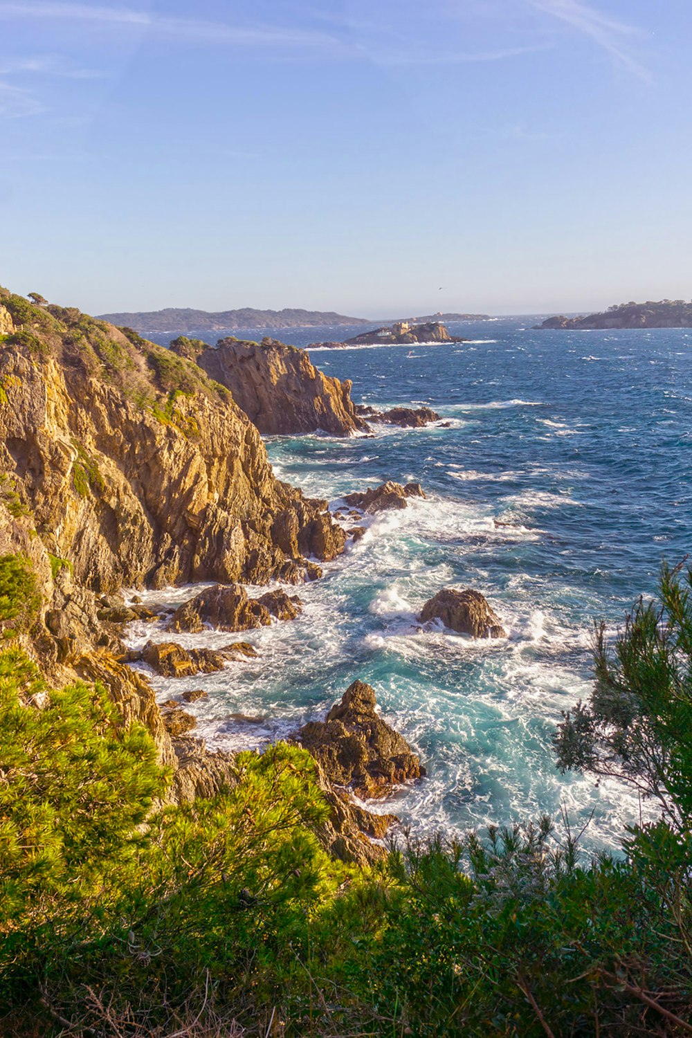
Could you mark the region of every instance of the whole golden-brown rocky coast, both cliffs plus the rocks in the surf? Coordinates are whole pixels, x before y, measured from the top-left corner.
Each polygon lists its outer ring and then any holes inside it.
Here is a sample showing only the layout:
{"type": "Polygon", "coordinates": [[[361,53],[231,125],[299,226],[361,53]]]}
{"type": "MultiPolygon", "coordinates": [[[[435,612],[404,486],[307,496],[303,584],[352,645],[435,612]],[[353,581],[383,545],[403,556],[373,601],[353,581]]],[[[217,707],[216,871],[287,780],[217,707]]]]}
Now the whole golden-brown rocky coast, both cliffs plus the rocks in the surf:
{"type": "MultiPolygon", "coordinates": [[[[99,683],[123,726],[147,728],[173,775],[171,800],[212,796],[232,786],[236,772],[232,754],[210,753],[190,735],[195,718],[183,703],[205,693],[187,690],[162,709],[141,665],[174,681],[251,657],[256,650],[245,641],[185,649],[175,636],[295,620],[300,596],[275,588],[250,597],[246,585],[319,579],[320,563],[362,536],[365,516],[425,496],[418,484],[389,482],[347,495],[333,517],[326,500],[275,477],[260,433],[313,431],[319,422],[350,435],[368,429],[364,412],[412,428],[439,416],[427,408],[358,408],[349,382],[269,339],[226,339],[216,349],[177,339],[168,351],[75,308],[30,304],[5,290],[0,331],[0,553],[21,561],[40,601],[20,641],[49,684],[99,683]],[[166,617],[168,640],[128,650],[127,626],[160,617],[137,596],[127,604],[122,589],[210,581],[166,617]]],[[[468,598],[474,594],[464,592],[460,602],[445,592],[420,622],[504,634],[485,600],[468,598]]],[[[332,807],[326,845],[354,861],[377,857],[369,838],[395,819],[372,815],[353,795],[387,796],[425,769],[376,714],[375,690],[354,682],[324,721],[295,738],[314,757],[332,807]]]]}

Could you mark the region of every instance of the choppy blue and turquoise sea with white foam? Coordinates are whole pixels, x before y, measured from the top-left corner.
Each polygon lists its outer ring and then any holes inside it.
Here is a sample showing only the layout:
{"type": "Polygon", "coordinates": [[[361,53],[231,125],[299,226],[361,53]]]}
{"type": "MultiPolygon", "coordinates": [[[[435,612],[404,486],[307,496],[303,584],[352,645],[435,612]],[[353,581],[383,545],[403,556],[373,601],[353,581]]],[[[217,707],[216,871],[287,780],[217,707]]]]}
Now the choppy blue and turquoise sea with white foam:
{"type": "MultiPolygon", "coordinates": [[[[418,481],[428,499],[376,518],[300,589],[299,620],[252,634],[260,659],[190,681],[210,692],[192,709],[213,745],[261,745],[360,678],[428,769],[382,810],[430,830],[563,805],[575,823],[593,812],[591,841],[612,843],[640,805],[615,784],[559,775],[551,738],[560,711],[588,694],[593,618],[614,632],[654,590],[661,558],[692,546],[692,334],[537,332],[519,321],[455,330],[474,342],[412,357],[409,347],[312,355],[353,379],[356,401],[424,403],[450,427],[271,438],[277,474],[335,503],[386,479],[418,481]],[[481,591],[508,639],[419,629],[422,603],[449,584],[481,591]]],[[[228,640],[188,641],[200,637],[228,640]]]]}

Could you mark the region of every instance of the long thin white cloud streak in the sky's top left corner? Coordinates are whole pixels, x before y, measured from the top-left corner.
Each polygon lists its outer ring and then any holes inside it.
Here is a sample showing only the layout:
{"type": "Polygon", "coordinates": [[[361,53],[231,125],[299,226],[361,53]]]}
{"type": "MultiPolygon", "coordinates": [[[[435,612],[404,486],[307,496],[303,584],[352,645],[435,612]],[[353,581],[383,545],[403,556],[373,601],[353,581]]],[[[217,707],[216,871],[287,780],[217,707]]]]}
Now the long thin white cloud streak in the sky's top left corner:
{"type": "Polygon", "coordinates": [[[151,13],[134,7],[60,3],[54,0],[0,2],[0,18],[57,19],[100,25],[139,28],[160,36],[206,44],[237,44],[246,47],[303,47],[331,49],[338,42],[331,35],[309,30],[266,25],[230,25],[203,19],[151,13]]]}

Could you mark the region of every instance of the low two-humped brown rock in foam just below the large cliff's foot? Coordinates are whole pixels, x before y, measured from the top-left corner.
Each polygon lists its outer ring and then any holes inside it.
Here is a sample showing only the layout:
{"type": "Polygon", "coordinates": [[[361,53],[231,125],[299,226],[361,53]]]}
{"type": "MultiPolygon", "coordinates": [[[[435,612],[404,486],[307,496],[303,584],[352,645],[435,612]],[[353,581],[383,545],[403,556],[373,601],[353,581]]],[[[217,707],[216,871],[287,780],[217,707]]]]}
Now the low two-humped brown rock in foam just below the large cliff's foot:
{"type": "Polygon", "coordinates": [[[195,595],[173,613],[169,631],[198,634],[205,627],[220,631],[249,631],[269,627],[272,616],[277,620],[294,620],[302,609],[297,595],[271,591],[259,598],[248,598],[242,584],[217,584],[195,595]]]}

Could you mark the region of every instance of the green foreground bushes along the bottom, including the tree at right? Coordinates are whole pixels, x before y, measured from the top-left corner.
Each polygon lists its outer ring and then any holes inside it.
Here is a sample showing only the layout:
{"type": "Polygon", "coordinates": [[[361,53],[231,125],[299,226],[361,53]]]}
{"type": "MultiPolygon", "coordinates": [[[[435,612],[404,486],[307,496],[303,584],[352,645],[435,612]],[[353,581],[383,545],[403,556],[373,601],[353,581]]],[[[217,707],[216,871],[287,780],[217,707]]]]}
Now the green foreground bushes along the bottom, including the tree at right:
{"type": "Polygon", "coordinates": [[[324,851],[304,750],[240,755],[216,798],[157,807],[142,728],[0,654],[0,1031],[689,1034],[691,631],[692,577],[665,571],[557,737],[563,767],[656,784],[663,818],[621,854],[582,856],[541,819],[404,841],[369,869],[324,851]],[[605,723],[608,688],[627,710],[605,723]]]}

